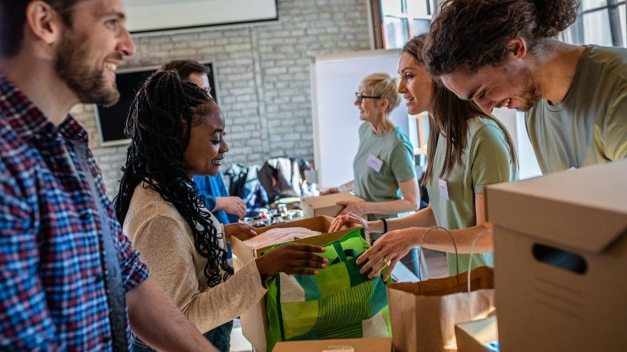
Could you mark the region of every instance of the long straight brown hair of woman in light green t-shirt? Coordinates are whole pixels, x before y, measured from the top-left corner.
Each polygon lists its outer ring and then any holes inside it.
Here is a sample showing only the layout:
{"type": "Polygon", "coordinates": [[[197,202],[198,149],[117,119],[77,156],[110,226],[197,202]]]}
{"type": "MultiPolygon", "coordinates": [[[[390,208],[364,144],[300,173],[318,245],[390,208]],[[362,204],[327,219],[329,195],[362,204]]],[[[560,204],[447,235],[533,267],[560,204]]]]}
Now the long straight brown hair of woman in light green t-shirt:
{"type": "MultiPolygon", "coordinates": [[[[424,67],[424,43],[426,34],[417,35],[410,39],[403,47],[403,52],[413,56],[417,63],[424,67]]],[[[468,120],[482,116],[494,121],[503,131],[505,141],[509,145],[509,155],[513,165],[518,167],[516,150],[514,150],[511,136],[505,126],[494,116],[488,115],[479,109],[479,106],[470,100],[463,100],[448,90],[438,79],[433,79],[433,106],[429,115],[429,136],[427,143],[427,167],[422,179],[422,186],[426,185],[433,171],[435,149],[438,147],[440,134],[447,136],[447,147],[444,152],[444,167],[439,177],[448,176],[455,163],[461,163],[462,154],[467,146],[468,120]]]]}

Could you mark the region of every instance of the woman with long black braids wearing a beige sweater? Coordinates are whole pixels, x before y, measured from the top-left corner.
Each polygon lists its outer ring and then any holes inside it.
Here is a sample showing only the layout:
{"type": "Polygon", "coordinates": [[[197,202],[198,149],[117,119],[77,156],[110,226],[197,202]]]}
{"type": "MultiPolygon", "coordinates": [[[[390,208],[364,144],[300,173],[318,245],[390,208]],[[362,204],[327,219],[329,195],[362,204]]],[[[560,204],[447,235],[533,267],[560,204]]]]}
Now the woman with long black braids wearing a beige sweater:
{"type": "MultiPolygon", "coordinates": [[[[226,261],[231,234],[203,205],[194,175],[215,175],[229,150],[214,99],[174,71],[156,72],[139,89],[125,133],[131,138],[114,206],[141,259],[183,314],[221,351],[232,319],[257,304],[277,272],[315,274],[326,259],[317,246],[281,246],[237,273],[226,261]],[[227,280],[227,278],[229,280],[227,280]]],[[[136,351],[149,351],[133,339],[136,351]]]]}

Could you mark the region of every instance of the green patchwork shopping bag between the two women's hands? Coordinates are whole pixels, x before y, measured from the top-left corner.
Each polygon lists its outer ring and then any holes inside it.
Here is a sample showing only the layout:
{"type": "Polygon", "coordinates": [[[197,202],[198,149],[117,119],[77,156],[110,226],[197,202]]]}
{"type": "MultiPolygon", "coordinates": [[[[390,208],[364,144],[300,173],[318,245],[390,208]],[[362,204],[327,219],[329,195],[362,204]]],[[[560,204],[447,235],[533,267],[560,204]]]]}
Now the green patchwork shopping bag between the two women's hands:
{"type": "Polygon", "coordinates": [[[363,237],[357,228],[327,243],[319,254],[329,264],[318,275],[268,280],[268,351],[279,341],[392,336],[385,282],[380,275],[369,280],[355,263],[369,247],[363,237]]]}

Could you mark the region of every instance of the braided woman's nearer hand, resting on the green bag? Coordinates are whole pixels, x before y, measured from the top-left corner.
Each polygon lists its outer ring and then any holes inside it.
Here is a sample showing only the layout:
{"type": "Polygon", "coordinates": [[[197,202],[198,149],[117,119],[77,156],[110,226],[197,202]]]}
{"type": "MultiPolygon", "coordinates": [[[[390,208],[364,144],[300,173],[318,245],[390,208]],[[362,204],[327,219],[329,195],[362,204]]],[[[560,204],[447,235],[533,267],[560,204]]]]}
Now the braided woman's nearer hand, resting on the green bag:
{"type": "Polygon", "coordinates": [[[329,259],[315,255],[325,248],[308,244],[286,244],[255,259],[261,281],[276,273],[316,275],[316,269],[327,266],[329,259]]]}

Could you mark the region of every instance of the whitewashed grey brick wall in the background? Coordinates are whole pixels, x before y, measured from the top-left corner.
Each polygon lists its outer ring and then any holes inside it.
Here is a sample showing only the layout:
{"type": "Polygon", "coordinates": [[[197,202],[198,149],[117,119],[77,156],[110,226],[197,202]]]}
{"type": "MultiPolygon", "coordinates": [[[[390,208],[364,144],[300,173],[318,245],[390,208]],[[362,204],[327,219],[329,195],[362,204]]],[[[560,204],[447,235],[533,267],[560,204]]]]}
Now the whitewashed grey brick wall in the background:
{"type": "MultiPolygon", "coordinates": [[[[226,113],[230,163],[261,164],[269,157],[314,159],[309,58],[370,49],[367,1],[279,0],[279,21],[193,33],[134,36],[137,54],[125,67],[161,65],[175,58],[212,61],[219,103],[226,113]]],[[[93,106],[75,106],[102,169],[107,193],[118,192],[126,146],[100,147],[93,106]]]]}

